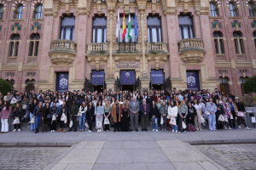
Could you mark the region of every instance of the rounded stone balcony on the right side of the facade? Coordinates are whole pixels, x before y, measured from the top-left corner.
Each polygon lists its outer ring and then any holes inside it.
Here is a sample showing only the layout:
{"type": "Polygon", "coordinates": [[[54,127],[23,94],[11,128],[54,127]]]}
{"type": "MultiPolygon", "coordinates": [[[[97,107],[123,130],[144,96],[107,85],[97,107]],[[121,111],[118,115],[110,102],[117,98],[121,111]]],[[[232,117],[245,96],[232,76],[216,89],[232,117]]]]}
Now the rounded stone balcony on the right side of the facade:
{"type": "Polygon", "coordinates": [[[199,63],[204,59],[206,50],[201,38],[186,38],[179,42],[178,54],[184,62],[199,63]]]}

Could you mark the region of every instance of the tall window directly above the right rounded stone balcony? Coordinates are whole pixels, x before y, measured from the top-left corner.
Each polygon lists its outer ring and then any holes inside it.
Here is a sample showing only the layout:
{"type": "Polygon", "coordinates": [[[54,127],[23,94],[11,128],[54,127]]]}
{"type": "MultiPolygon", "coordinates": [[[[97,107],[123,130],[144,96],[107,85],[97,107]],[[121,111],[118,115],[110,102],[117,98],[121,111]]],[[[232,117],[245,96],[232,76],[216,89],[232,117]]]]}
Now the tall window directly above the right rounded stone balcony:
{"type": "Polygon", "coordinates": [[[181,40],[195,37],[193,18],[190,17],[190,15],[188,14],[179,15],[178,23],[179,23],[179,32],[180,32],[181,40]]]}

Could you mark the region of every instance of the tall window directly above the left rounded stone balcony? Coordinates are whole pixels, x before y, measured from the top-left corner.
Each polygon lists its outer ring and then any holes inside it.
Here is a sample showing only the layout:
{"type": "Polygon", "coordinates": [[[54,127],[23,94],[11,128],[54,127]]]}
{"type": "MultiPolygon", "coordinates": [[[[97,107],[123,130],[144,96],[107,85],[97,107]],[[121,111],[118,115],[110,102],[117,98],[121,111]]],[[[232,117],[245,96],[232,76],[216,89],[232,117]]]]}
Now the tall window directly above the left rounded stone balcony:
{"type": "Polygon", "coordinates": [[[63,18],[61,18],[60,39],[73,41],[74,29],[75,29],[75,17],[63,16],[63,18]]]}

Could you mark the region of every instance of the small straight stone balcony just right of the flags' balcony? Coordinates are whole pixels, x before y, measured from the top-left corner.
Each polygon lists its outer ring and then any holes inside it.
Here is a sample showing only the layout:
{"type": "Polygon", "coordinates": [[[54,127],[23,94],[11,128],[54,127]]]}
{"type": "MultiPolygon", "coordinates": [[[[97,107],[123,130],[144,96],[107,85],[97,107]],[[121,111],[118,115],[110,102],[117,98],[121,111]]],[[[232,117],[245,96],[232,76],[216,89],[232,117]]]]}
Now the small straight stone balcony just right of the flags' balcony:
{"type": "Polygon", "coordinates": [[[167,42],[146,42],[146,54],[169,54],[167,42]]]}

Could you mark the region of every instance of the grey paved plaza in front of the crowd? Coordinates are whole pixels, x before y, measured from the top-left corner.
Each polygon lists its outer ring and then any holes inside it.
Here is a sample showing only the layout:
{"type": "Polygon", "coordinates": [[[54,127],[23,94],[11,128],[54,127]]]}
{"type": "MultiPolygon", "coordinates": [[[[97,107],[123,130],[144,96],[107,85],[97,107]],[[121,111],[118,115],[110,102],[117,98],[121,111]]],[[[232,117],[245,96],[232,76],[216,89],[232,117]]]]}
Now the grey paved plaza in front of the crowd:
{"type": "MultiPolygon", "coordinates": [[[[246,162],[250,165],[254,165],[253,161],[255,161],[255,159],[253,159],[253,157],[255,157],[255,152],[252,152],[252,150],[245,151],[245,148],[236,149],[236,144],[224,144],[223,148],[214,148],[216,144],[209,145],[209,147],[207,147],[208,145],[191,145],[238,142],[256,142],[256,129],[253,128],[251,131],[236,129],[232,131],[224,130],[216,132],[203,129],[203,131],[195,133],[172,133],[170,131],[133,131],[127,133],[113,133],[110,131],[108,133],[88,133],[85,131],[84,133],[40,132],[35,134],[30,131],[21,131],[0,134],[1,150],[14,155],[20,155],[23,151],[27,153],[33,152],[32,150],[34,150],[35,155],[38,155],[37,157],[35,156],[34,161],[38,161],[37,159],[40,159],[40,156],[44,157],[45,155],[50,158],[42,159],[42,164],[40,165],[35,164],[40,167],[36,166],[30,168],[43,169],[42,167],[44,167],[44,169],[54,170],[228,169],[222,161],[218,161],[216,158],[221,158],[223,155],[222,152],[226,155],[225,161],[228,161],[229,165],[234,164],[232,163],[234,156],[230,157],[231,155],[246,156],[248,158],[250,153],[253,153],[254,155],[249,159],[241,161],[240,167],[243,167],[246,162]],[[4,148],[6,145],[18,145],[23,147],[4,148]],[[26,147],[24,147],[24,145],[26,145],[26,147]],[[47,147],[35,148],[30,147],[30,145],[47,147]],[[55,145],[58,147],[49,147],[55,145]],[[70,145],[70,147],[61,147],[61,145],[70,145]],[[232,149],[230,152],[229,148],[232,149]],[[214,152],[212,152],[212,150],[214,152]],[[18,154],[15,154],[16,152],[18,154]],[[228,159],[230,159],[230,161],[228,159]]],[[[248,149],[249,147],[246,148],[248,149]]],[[[255,149],[255,145],[253,145],[253,149],[255,149]]],[[[1,160],[3,156],[6,155],[1,154],[1,160]]],[[[19,157],[16,157],[16,160],[12,160],[11,162],[15,164],[17,160],[19,160],[19,157]]],[[[27,162],[26,160],[23,161],[27,162]]],[[[5,165],[6,164],[7,163],[5,163],[5,165]]],[[[237,167],[237,164],[234,164],[234,166],[234,168],[230,169],[241,169],[237,167]]],[[[0,166],[0,169],[1,168],[5,167],[0,166]]],[[[250,166],[247,166],[245,169],[250,168],[250,166]]]]}

